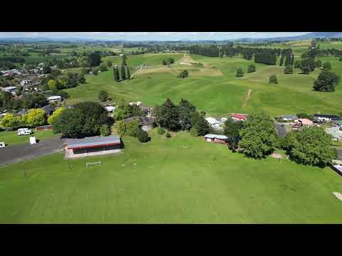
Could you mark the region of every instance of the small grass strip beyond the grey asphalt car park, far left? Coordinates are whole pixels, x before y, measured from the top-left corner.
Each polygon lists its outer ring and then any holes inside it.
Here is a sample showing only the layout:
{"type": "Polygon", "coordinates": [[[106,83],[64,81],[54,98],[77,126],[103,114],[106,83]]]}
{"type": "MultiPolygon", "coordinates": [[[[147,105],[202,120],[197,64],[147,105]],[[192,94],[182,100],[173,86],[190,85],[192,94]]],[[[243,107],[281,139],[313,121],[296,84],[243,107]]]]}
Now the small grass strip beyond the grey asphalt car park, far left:
{"type": "MultiPolygon", "coordinates": [[[[36,137],[36,140],[44,140],[51,138],[53,136],[56,136],[57,134],[54,134],[53,131],[34,131],[33,134],[34,137],[36,137]]],[[[11,146],[14,144],[22,144],[30,143],[30,135],[21,135],[18,136],[17,131],[11,131],[11,132],[0,132],[0,142],[5,142],[7,146],[11,146]]]]}

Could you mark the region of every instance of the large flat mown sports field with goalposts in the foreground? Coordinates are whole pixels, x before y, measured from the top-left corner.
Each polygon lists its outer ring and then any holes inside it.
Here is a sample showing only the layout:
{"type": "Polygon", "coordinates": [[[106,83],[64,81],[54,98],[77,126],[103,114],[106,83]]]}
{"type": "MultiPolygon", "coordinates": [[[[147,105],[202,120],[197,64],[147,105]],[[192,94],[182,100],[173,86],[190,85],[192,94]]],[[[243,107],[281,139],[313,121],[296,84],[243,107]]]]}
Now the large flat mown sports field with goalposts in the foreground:
{"type": "Polygon", "coordinates": [[[0,168],[0,223],[342,223],[332,193],[342,178],[330,168],[247,159],[185,132],[150,135],[71,169],[63,154],[0,168]]]}

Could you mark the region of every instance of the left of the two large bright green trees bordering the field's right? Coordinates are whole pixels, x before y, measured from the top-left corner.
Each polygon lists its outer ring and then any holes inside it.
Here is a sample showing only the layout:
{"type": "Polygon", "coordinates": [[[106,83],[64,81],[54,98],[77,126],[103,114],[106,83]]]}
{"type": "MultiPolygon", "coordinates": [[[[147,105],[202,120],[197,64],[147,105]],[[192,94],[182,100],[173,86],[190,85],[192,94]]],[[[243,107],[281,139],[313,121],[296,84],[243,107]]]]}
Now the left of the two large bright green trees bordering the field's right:
{"type": "Polygon", "coordinates": [[[271,154],[276,146],[273,120],[264,113],[249,115],[239,135],[242,138],[239,147],[244,154],[256,159],[271,154]]]}

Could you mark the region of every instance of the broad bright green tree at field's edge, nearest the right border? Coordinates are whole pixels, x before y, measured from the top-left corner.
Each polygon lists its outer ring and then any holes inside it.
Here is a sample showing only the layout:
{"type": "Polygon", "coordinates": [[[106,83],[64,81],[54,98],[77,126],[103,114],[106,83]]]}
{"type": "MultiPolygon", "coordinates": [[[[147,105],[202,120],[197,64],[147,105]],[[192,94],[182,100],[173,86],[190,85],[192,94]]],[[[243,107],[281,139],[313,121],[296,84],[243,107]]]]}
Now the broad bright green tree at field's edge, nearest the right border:
{"type": "Polygon", "coordinates": [[[326,166],[335,156],[331,136],[322,127],[310,127],[294,133],[290,157],[301,164],[326,166]]]}

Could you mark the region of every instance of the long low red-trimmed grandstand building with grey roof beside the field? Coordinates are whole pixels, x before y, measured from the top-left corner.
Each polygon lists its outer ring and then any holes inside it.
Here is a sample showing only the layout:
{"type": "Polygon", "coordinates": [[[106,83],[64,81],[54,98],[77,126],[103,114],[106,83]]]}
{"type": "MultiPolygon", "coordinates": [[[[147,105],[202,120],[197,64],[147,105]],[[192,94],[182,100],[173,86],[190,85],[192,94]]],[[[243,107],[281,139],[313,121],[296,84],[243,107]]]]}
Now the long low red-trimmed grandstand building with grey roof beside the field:
{"type": "Polygon", "coordinates": [[[123,142],[117,136],[66,139],[64,142],[66,159],[114,154],[120,152],[121,149],[123,149],[123,142]]]}

